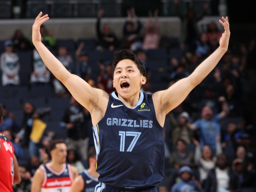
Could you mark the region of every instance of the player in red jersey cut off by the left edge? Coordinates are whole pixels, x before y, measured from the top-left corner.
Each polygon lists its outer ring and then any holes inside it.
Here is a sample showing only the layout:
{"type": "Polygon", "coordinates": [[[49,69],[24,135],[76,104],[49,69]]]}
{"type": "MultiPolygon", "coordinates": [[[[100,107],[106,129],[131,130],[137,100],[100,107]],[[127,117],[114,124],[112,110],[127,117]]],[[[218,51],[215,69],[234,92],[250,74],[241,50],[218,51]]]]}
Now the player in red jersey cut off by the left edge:
{"type": "MultiPolygon", "coordinates": [[[[0,104],[0,124],[3,122],[3,106],[0,104]]],[[[0,132],[0,192],[10,192],[12,185],[20,183],[20,171],[14,148],[0,132]]]]}

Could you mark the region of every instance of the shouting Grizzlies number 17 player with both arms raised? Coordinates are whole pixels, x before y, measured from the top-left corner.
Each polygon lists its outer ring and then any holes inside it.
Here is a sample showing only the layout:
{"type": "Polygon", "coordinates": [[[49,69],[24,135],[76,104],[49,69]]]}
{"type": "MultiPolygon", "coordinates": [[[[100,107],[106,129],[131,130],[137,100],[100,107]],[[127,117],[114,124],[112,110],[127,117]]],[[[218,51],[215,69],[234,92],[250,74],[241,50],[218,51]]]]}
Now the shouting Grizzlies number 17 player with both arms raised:
{"type": "Polygon", "coordinates": [[[92,88],[72,75],[41,42],[40,25],[48,20],[42,12],[33,25],[32,40],[45,65],[92,116],[100,183],[95,192],[156,191],[164,176],[163,126],[167,113],[177,107],[217,65],[228,50],[228,18],[220,24],[225,32],[220,46],[188,77],[152,95],[140,92],[146,83],[144,64],[131,51],[116,52],[113,85],[116,92],[92,88]]]}

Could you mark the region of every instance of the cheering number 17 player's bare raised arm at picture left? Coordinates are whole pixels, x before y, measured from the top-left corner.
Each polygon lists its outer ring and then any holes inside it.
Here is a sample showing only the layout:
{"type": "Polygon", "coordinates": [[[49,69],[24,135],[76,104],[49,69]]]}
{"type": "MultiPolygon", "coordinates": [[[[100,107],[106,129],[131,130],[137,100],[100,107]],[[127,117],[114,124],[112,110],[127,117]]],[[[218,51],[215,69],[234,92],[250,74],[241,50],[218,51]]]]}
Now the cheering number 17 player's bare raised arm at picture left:
{"type": "Polygon", "coordinates": [[[82,78],[69,73],[61,62],[41,42],[39,29],[48,19],[49,17],[47,14],[42,16],[42,12],[40,12],[36,17],[32,30],[33,44],[44,61],[44,64],[52,74],[67,87],[74,98],[87,108],[91,114],[95,108],[98,108],[105,113],[108,104],[108,94],[102,90],[92,88],[82,78]]]}

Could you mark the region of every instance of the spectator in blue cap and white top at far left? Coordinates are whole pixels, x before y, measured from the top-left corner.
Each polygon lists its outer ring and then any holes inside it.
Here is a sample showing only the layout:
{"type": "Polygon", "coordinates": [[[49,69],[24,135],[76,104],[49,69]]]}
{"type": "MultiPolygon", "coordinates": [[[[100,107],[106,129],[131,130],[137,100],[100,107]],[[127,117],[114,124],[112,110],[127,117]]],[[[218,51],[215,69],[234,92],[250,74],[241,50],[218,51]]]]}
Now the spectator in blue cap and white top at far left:
{"type": "Polygon", "coordinates": [[[20,62],[17,53],[13,52],[13,42],[7,40],[4,42],[4,49],[0,56],[0,66],[2,70],[2,85],[20,84],[20,62]]]}

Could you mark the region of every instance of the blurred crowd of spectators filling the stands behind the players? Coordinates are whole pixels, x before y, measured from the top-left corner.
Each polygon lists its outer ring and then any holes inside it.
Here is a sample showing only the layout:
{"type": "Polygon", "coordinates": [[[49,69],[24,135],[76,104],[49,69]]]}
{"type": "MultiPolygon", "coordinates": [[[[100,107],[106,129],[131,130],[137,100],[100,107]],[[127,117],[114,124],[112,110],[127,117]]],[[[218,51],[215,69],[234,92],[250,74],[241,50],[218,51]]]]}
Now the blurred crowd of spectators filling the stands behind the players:
{"type": "MultiPolygon", "coordinates": [[[[42,42],[69,72],[108,93],[115,91],[111,65],[115,50],[131,49],[144,62],[147,83],[142,91],[152,93],[187,77],[217,48],[222,34],[214,21],[198,34],[195,26],[200,18],[188,10],[182,17],[181,40],[169,38],[166,47],[161,43],[158,10],[149,11],[143,26],[131,8],[120,40],[108,24],[101,30],[103,15],[100,10],[97,40],[69,44],[55,39],[54,32],[44,26],[40,32],[42,42]]],[[[255,131],[247,126],[243,111],[244,70],[253,46],[230,48],[212,73],[166,116],[165,175],[157,185],[159,192],[255,191],[255,131]]],[[[90,113],[46,68],[22,31],[16,30],[4,42],[0,65],[0,103],[4,105],[0,132],[12,141],[21,173],[14,191],[30,191],[36,169],[49,161],[52,139],[65,139],[67,162],[79,172],[88,168],[87,151],[94,145],[90,113]]]]}

